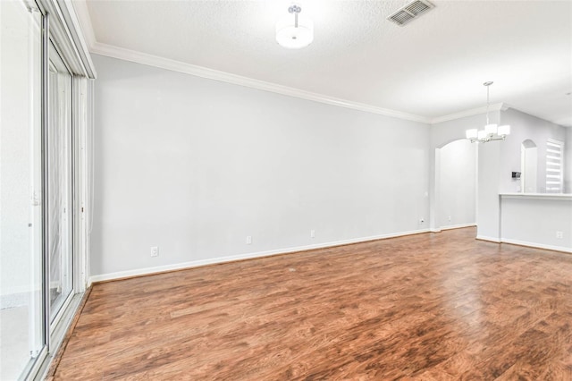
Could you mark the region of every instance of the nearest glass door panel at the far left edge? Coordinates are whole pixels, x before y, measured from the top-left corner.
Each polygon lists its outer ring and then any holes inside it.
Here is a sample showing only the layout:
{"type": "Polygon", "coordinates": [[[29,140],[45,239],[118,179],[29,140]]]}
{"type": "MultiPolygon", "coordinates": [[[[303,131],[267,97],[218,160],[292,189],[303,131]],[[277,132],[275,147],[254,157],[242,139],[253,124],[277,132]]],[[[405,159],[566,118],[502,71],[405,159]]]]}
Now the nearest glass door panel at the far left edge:
{"type": "Polygon", "coordinates": [[[0,379],[45,348],[42,251],[42,15],[0,1],[0,379]]]}

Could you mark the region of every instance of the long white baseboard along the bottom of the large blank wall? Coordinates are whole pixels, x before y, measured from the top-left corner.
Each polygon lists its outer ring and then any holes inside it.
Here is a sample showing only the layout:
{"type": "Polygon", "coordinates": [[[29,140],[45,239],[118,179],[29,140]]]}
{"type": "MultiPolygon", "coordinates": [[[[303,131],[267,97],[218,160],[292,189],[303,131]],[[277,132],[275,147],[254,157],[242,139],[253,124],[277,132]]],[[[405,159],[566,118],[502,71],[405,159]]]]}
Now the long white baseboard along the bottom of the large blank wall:
{"type": "Polygon", "coordinates": [[[288,249],[258,251],[258,252],[245,253],[245,254],[239,254],[239,255],[228,256],[228,257],[200,259],[200,260],[193,260],[190,262],[176,263],[176,264],[172,264],[172,265],[138,268],[138,269],[127,270],[127,271],[119,271],[116,273],[91,275],[91,276],[89,276],[88,286],[94,282],[111,281],[114,279],[128,278],[131,276],[164,273],[167,271],[181,270],[181,269],[185,269],[185,268],[200,267],[200,266],[206,266],[206,265],[214,265],[217,263],[233,262],[233,261],[242,260],[242,259],[270,257],[273,255],[288,254],[288,253],[293,253],[293,252],[297,252],[297,251],[325,249],[325,248],[331,248],[333,246],[347,245],[350,243],[376,241],[376,240],[383,240],[383,239],[387,239],[387,238],[401,237],[404,235],[412,235],[412,234],[428,233],[428,232],[429,232],[429,229],[420,229],[420,230],[414,230],[414,231],[409,231],[409,232],[381,234],[381,235],[374,235],[374,236],[370,236],[370,237],[355,238],[355,239],[350,239],[350,240],[324,242],[324,243],[318,243],[315,245],[298,246],[295,248],[288,248],[288,249]]]}

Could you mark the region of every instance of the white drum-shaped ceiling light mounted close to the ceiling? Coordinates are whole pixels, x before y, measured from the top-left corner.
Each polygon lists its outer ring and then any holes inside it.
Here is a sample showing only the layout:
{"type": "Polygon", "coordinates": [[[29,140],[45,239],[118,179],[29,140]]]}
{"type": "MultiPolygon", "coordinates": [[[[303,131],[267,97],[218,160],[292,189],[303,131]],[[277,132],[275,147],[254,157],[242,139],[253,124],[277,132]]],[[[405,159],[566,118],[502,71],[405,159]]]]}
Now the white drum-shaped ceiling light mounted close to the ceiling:
{"type": "Polygon", "coordinates": [[[299,13],[302,8],[292,4],[288,8],[288,16],[276,23],[276,41],[289,49],[307,47],[314,40],[314,22],[299,13]],[[292,17],[293,16],[293,17],[292,17]]]}

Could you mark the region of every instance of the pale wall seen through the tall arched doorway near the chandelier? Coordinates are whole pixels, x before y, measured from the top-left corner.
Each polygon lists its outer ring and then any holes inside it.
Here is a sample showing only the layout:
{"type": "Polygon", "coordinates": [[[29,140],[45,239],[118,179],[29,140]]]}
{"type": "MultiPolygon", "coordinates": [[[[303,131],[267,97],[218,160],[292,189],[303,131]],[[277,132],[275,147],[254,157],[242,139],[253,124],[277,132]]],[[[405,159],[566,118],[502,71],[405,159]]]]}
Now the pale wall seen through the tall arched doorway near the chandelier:
{"type": "Polygon", "coordinates": [[[476,148],[476,144],[466,139],[440,148],[438,216],[441,228],[475,224],[476,148]]]}

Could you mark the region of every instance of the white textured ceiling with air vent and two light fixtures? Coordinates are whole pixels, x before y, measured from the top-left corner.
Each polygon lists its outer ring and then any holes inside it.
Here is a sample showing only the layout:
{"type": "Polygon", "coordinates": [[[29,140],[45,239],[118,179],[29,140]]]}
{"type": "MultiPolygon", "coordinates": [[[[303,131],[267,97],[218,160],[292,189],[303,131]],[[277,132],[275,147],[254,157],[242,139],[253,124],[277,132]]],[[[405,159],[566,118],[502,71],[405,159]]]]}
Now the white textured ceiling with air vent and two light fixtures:
{"type": "Polygon", "coordinates": [[[427,118],[484,106],[493,80],[492,103],[572,126],[572,2],[434,0],[404,27],[385,20],[407,3],[300,1],[315,39],[299,50],[274,39],[290,1],[76,7],[99,44],[427,118]]]}

